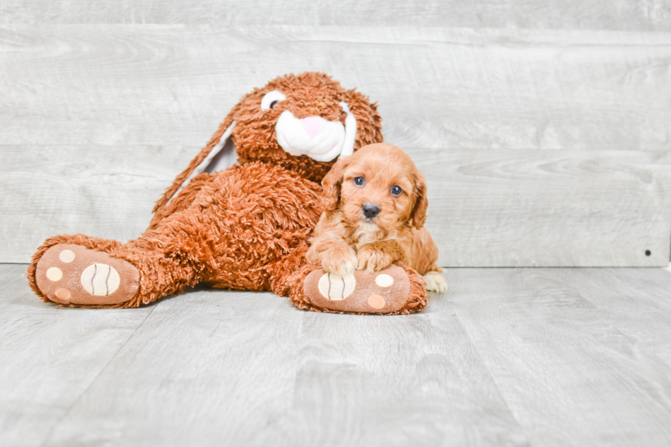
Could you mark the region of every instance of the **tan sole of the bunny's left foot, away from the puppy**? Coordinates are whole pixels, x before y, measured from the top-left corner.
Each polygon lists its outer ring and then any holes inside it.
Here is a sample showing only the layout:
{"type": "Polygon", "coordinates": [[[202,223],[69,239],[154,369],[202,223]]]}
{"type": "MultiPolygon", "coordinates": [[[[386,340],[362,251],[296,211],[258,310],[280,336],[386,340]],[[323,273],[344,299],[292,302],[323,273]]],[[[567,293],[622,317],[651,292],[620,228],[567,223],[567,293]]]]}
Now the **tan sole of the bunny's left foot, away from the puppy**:
{"type": "Polygon", "coordinates": [[[49,248],[38,261],[35,280],[44,296],[62,305],[125,303],[140,287],[133,264],[76,244],[49,248]]]}

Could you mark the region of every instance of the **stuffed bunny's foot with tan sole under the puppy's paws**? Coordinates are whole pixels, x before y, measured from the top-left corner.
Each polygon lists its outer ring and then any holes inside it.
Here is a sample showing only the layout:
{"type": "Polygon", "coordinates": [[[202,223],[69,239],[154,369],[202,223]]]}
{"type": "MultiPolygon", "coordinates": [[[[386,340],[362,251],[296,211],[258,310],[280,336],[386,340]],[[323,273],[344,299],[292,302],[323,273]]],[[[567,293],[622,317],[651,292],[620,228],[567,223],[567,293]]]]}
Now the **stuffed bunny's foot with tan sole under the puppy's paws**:
{"type": "Polygon", "coordinates": [[[313,310],[346,314],[412,314],[427,303],[421,277],[396,265],[345,277],[320,268],[305,277],[303,294],[313,310]]]}

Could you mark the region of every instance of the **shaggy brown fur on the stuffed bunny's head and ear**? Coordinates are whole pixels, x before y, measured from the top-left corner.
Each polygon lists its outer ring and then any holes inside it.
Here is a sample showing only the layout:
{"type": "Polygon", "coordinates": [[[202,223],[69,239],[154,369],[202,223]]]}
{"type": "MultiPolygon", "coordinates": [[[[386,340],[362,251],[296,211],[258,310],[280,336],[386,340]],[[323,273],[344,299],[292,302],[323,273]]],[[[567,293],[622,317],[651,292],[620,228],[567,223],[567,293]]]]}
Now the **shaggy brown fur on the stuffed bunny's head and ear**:
{"type": "Polygon", "coordinates": [[[286,153],[275,138],[275,123],[284,110],[290,110],[296,118],[307,116],[321,116],[329,121],[340,120],[344,124],[344,114],[340,101],[349,104],[351,112],[357,119],[357,136],[354,148],[366,146],[372,142],[382,141],[381,118],[377,114],[377,105],[370,103],[368,98],[356,90],[344,90],[323,73],[303,73],[288,75],[273,79],[264,88],[257,88],[247,94],[242,101],[233,107],[223,123],[214,133],[210,142],[192,160],[181,174],[173,181],[164,196],[157,201],[153,209],[155,213],[151,220],[151,227],[165,216],[177,209],[183,209],[192,201],[201,188],[201,183],[207,182],[210,175],[200,175],[194,178],[190,190],[182,190],[177,200],[173,200],[166,207],[166,203],[177,192],[183,181],[193,172],[194,168],[203,162],[207,154],[219,142],[226,129],[236,121],[231,138],[236,145],[238,163],[262,162],[282,166],[286,170],[297,173],[300,177],[320,182],[329,172],[334,162],[316,162],[307,155],[294,157],[286,153]],[[264,95],[272,90],[290,92],[286,101],[278,103],[271,110],[260,110],[259,104],[264,95]]]}

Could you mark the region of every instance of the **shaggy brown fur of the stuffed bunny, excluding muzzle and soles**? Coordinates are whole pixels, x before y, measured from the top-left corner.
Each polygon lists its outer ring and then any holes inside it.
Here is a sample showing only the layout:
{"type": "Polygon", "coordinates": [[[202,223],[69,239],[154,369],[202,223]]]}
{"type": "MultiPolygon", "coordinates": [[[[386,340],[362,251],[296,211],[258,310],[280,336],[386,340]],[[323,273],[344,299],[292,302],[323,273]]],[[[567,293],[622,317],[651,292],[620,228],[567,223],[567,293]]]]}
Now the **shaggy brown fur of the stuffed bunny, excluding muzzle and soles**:
{"type": "MultiPolygon", "coordinates": [[[[149,229],[140,238],[125,244],[82,234],[49,238],[28,268],[31,288],[43,301],[55,302],[55,297],[46,296],[38,287],[36,266],[50,247],[77,244],[131,263],[139,272],[139,290],[114,305],[62,303],[66,305],[136,307],[199,282],[215,288],[274,290],[288,296],[292,285],[300,281],[295,273],[305,270],[307,240],[322,212],[318,182],[335,160],[316,162],[305,155],[289,155],[277,143],[275,123],[283,110],[290,110],[296,118],[322,116],[344,122],[340,101],[349,104],[357,120],[355,150],[382,140],[377,107],[364,95],[344,90],[322,73],[278,77],[233,107],[210,142],[157,202],[149,229]],[[286,100],[261,110],[262,97],[272,90],[286,94],[286,100]],[[231,139],[238,164],[194,177],[173,198],[233,120],[236,127],[231,139]],[[292,274],[293,282],[288,281],[292,274]]],[[[303,301],[294,303],[309,308],[303,301]]]]}

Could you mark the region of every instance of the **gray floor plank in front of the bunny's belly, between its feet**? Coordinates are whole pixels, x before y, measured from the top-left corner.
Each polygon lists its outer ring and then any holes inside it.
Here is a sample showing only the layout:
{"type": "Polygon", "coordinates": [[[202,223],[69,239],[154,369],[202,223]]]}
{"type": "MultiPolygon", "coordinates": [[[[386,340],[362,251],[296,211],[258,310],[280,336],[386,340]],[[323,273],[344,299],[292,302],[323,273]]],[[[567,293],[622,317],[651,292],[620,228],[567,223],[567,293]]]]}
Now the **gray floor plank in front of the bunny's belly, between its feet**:
{"type": "Polygon", "coordinates": [[[270,293],[198,290],[153,313],[50,445],[278,445],[271,434],[300,429],[300,420],[280,422],[292,405],[303,311],[270,293]]]}

